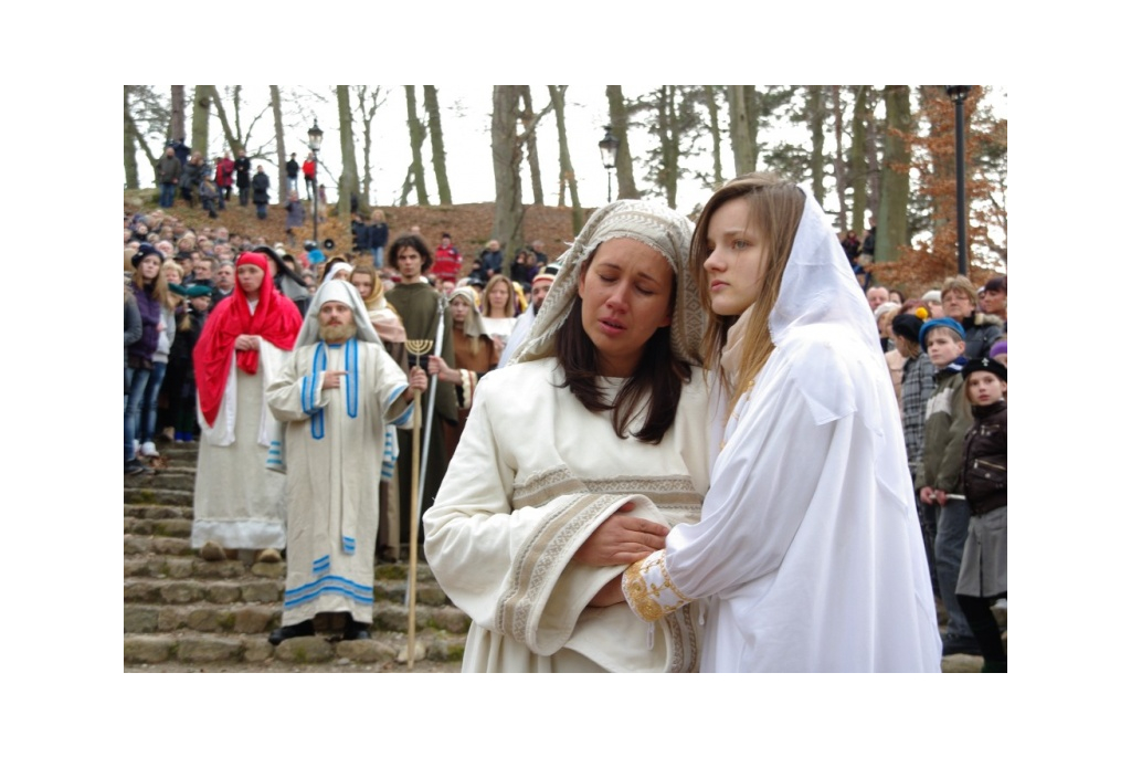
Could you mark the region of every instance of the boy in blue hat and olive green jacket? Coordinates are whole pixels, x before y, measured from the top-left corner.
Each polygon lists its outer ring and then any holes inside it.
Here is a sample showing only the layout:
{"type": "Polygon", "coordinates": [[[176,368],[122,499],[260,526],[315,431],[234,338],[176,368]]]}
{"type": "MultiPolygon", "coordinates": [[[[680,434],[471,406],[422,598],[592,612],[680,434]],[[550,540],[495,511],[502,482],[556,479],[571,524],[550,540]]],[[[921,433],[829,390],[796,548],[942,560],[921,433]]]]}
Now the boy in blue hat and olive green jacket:
{"type": "Polygon", "coordinates": [[[981,647],[955,595],[970,519],[966,496],[958,485],[962,441],[970,428],[969,411],[962,401],[966,332],[953,318],[935,318],[923,324],[920,345],[935,373],[934,390],[924,412],[923,458],[915,473],[915,491],[923,505],[939,507],[934,567],[948,616],[942,654],[979,654],[981,647]]]}

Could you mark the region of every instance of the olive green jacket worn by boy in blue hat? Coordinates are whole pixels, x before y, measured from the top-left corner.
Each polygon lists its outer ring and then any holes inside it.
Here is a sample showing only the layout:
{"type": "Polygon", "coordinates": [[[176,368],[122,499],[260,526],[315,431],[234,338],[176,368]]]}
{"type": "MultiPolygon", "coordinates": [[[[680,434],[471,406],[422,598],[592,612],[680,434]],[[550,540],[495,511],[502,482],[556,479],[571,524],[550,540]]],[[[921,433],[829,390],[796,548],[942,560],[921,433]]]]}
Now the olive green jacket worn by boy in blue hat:
{"type": "Polygon", "coordinates": [[[961,372],[952,365],[934,375],[934,392],[924,411],[923,459],[915,470],[916,493],[931,487],[962,496],[958,485],[962,442],[973,423],[962,384],[961,372]]]}

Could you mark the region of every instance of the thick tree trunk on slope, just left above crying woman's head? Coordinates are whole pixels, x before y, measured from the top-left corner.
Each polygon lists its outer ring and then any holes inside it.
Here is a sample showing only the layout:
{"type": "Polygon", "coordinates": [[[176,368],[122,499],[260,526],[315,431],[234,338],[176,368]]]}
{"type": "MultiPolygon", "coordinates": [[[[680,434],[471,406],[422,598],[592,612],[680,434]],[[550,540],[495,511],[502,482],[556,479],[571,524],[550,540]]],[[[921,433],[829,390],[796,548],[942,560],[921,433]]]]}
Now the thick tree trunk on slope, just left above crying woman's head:
{"type": "Polygon", "coordinates": [[[519,87],[498,85],[491,111],[491,155],[495,175],[495,212],[491,236],[506,247],[503,270],[523,247],[523,148],[518,140],[519,87]]]}

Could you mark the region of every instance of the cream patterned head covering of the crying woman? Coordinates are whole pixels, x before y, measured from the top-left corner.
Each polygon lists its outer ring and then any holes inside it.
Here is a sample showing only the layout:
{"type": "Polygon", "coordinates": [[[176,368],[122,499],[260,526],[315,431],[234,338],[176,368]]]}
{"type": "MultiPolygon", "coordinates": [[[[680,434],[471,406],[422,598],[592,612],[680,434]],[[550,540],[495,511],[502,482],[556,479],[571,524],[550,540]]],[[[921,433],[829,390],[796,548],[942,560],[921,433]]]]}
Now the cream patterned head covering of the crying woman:
{"type": "Polygon", "coordinates": [[[645,200],[616,200],[594,213],[562,256],[561,268],[529,336],[508,364],[554,354],[558,332],[577,300],[581,265],[602,242],[611,239],[632,239],[647,244],[672,266],[675,272],[675,308],[670,327],[672,353],[694,365],[702,364],[699,345],[706,320],[699,304],[699,284],[689,267],[691,230],[691,222],[675,210],[645,200]]]}

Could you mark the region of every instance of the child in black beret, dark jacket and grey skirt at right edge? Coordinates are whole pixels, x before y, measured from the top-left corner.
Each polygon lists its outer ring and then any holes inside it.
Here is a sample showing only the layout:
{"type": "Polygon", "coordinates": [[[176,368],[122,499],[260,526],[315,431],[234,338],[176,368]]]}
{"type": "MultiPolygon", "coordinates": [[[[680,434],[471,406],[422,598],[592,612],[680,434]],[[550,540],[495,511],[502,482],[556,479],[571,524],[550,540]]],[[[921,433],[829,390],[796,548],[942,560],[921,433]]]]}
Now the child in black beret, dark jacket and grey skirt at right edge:
{"type": "Polygon", "coordinates": [[[984,673],[1005,672],[1005,648],[991,610],[1007,592],[1007,369],[983,358],[962,368],[974,424],[966,433],[962,491],[970,526],[958,571],[958,603],[982,650],[984,673]]]}

